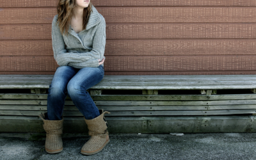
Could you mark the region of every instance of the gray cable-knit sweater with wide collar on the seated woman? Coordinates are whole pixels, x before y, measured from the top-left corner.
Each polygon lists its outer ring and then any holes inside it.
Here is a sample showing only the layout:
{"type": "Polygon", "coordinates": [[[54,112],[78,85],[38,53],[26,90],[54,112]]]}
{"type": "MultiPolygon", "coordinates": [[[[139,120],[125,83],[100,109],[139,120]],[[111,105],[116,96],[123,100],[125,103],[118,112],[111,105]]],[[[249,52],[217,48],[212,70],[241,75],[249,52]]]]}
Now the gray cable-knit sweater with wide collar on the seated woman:
{"type": "Polygon", "coordinates": [[[77,34],[69,26],[68,35],[61,35],[58,24],[55,25],[57,18],[58,15],[55,15],[52,20],[52,49],[58,65],[69,65],[74,68],[99,67],[98,59],[105,58],[106,22],[104,17],[92,6],[86,29],[77,34]]]}

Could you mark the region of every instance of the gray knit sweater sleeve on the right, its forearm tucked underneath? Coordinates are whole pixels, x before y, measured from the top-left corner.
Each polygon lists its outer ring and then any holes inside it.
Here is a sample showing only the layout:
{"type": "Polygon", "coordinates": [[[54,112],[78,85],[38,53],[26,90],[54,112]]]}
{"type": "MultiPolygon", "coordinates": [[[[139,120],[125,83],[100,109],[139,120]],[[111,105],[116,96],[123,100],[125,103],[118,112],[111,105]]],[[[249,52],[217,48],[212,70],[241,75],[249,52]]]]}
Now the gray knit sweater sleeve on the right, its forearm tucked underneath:
{"type": "Polygon", "coordinates": [[[92,51],[86,52],[87,55],[91,55],[93,57],[93,60],[79,61],[79,62],[71,61],[68,63],[68,65],[74,68],[99,67],[98,59],[102,60],[103,58],[105,58],[104,56],[105,45],[106,45],[106,22],[105,22],[105,19],[102,18],[93,36],[92,51]]]}

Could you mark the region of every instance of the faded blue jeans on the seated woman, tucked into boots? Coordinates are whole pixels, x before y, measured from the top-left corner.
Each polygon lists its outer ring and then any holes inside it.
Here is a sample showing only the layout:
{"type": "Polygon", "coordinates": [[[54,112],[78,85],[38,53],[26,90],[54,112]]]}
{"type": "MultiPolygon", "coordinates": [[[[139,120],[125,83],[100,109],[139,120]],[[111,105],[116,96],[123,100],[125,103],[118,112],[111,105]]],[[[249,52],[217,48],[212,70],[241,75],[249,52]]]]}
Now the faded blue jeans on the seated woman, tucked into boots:
{"type": "Polygon", "coordinates": [[[100,115],[99,109],[86,90],[99,83],[104,77],[104,67],[73,68],[58,67],[47,97],[47,120],[61,120],[67,95],[86,120],[100,115]]]}

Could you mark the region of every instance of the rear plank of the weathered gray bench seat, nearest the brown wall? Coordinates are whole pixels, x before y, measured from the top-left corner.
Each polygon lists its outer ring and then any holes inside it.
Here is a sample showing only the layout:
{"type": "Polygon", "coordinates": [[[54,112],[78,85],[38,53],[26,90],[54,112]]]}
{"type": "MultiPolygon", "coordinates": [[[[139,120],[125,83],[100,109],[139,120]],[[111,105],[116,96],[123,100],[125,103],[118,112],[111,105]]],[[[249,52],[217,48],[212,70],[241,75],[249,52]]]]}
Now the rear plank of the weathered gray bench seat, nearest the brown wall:
{"type": "MultiPolygon", "coordinates": [[[[25,75],[24,75],[25,76],[25,75]]],[[[13,75],[13,76],[0,76],[0,82],[6,82],[6,83],[19,83],[19,82],[28,82],[28,83],[36,83],[36,82],[41,82],[41,81],[51,81],[53,76],[52,75],[35,75],[35,76],[28,76],[28,77],[21,77],[20,75],[13,75]]],[[[218,82],[223,82],[223,81],[227,81],[228,82],[237,82],[237,83],[241,83],[241,81],[245,82],[245,83],[252,83],[254,81],[256,81],[256,76],[244,76],[244,77],[239,77],[239,76],[230,76],[230,77],[213,77],[213,76],[204,76],[204,77],[200,77],[200,76],[186,76],[186,77],[171,77],[171,76],[152,76],[152,77],[148,77],[148,76],[140,76],[140,77],[136,77],[136,76],[105,76],[104,79],[102,80],[102,82],[104,83],[168,83],[168,82],[172,82],[172,83],[186,83],[186,82],[204,82],[208,81],[208,83],[211,83],[211,81],[218,81],[218,82]],[[237,79],[234,79],[237,78],[237,79]]],[[[151,92],[151,91],[150,91],[151,92]]],[[[145,93],[147,93],[145,91],[145,93]]]]}

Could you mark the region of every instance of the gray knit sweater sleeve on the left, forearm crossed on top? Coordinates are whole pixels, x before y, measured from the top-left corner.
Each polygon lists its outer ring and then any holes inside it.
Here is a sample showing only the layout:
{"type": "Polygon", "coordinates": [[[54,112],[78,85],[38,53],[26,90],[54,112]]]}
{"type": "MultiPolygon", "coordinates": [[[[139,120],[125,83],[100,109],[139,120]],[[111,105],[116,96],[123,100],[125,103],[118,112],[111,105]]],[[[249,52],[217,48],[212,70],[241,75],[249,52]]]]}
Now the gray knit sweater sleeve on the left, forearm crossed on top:
{"type": "MultiPolygon", "coordinates": [[[[77,63],[83,62],[86,67],[99,66],[99,62],[96,58],[93,58],[92,54],[89,52],[83,53],[73,53],[67,52],[65,49],[65,42],[63,36],[60,32],[58,25],[56,26],[57,16],[52,20],[52,49],[54,52],[54,59],[58,65],[68,65],[68,63],[73,63],[73,65],[79,66],[77,63]]],[[[83,67],[81,67],[83,68],[83,67]]]]}

